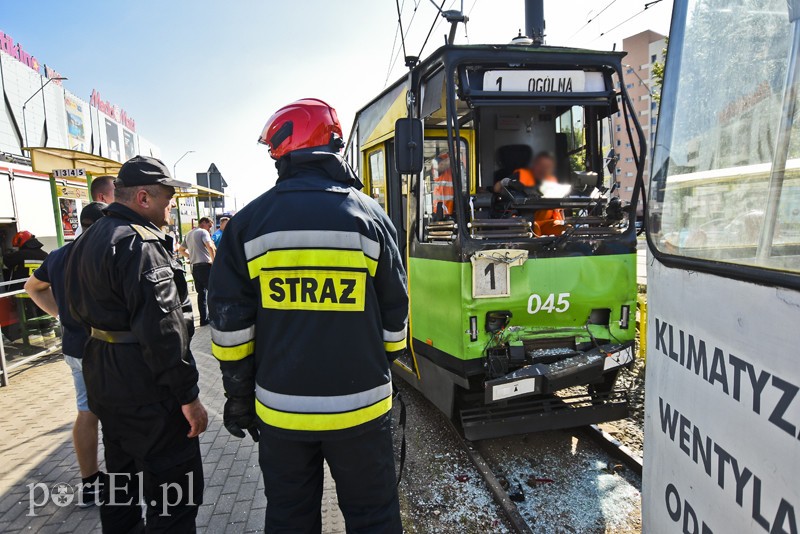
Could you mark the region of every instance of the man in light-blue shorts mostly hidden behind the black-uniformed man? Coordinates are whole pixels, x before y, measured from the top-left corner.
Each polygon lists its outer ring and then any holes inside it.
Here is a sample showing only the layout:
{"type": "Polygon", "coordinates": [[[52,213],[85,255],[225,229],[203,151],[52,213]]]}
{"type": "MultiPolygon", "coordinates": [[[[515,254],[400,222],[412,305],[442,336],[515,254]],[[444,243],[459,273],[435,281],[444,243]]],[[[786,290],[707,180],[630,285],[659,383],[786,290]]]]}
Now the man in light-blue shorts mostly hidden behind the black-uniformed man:
{"type": "MultiPolygon", "coordinates": [[[[103,210],[107,207],[102,202],[92,202],[81,210],[80,224],[84,232],[103,217],[103,210]]],[[[83,347],[89,336],[83,325],[70,315],[66,298],[64,275],[67,258],[74,243],[71,241],[52,251],[44,263],[34,271],[33,276],[25,282],[25,291],[37,306],[61,321],[61,350],[64,353],[64,361],[72,370],[75,400],[78,405],[78,417],[72,426],[72,444],[81,472],[81,495],[78,505],[91,506],[99,504],[104,473],[100,471],[97,462],[97,416],[89,410],[86,383],[83,380],[83,347]]]]}

